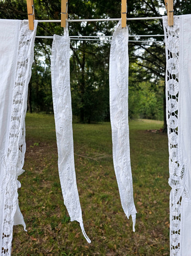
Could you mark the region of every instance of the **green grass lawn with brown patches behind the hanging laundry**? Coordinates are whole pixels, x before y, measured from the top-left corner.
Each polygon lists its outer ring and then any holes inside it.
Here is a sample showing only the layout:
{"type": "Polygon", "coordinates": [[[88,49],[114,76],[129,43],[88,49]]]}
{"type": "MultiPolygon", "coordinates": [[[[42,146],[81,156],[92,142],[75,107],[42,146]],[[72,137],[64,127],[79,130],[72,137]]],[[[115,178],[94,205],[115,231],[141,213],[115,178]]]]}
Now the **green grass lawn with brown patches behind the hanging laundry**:
{"type": "Polygon", "coordinates": [[[136,231],[121,207],[112,162],[110,123],[73,124],[74,156],[84,228],[70,222],[57,169],[54,117],[27,114],[19,203],[28,232],[14,226],[12,255],[169,255],[168,139],[160,121],[129,122],[136,231]]]}

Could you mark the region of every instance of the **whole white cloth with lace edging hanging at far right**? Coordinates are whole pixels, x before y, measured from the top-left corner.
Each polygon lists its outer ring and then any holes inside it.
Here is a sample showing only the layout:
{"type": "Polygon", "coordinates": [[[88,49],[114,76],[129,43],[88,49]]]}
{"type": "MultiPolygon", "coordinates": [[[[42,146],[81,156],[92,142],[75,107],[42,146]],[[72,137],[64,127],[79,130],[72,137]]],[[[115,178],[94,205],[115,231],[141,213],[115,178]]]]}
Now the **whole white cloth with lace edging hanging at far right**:
{"type": "Polygon", "coordinates": [[[169,138],[170,255],[191,256],[191,15],[163,17],[169,138]]]}

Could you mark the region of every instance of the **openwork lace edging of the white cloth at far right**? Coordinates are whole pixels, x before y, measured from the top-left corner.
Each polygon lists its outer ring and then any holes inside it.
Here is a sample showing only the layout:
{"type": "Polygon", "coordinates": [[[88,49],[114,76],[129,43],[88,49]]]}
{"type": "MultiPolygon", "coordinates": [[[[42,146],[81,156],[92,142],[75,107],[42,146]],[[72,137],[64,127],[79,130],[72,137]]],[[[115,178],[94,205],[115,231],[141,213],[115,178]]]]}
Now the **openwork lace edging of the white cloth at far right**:
{"type": "Polygon", "coordinates": [[[187,162],[180,149],[180,19],[174,17],[174,25],[168,25],[163,17],[166,48],[166,116],[169,138],[170,192],[170,255],[180,256],[182,199],[188,198],[185,187],[187,162]]]}

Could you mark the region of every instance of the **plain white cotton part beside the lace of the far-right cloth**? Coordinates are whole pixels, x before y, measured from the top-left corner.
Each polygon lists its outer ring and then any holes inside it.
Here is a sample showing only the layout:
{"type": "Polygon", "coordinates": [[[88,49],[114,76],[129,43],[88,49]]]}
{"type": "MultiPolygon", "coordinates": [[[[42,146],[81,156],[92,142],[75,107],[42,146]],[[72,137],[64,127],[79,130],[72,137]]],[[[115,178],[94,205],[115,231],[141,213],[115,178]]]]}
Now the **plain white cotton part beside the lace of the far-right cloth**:
{"type": "Polygon", "coordinates": [[[181,255],[191,256],[191,15],[180,17],[180,149],[187,162],[182,200],[181,255]]]}

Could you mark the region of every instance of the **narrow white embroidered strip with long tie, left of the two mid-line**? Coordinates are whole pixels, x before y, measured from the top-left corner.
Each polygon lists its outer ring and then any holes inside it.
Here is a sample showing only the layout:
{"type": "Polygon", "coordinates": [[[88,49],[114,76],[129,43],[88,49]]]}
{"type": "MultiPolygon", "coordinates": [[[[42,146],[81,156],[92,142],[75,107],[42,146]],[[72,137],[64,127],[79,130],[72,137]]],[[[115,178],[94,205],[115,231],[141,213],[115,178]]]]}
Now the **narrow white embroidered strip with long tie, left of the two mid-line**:
{"type": "Polygon", "coordinates": [[[64,204],[71,221],[77,220],[80,223],[84,237],[88,243],[91,243],[84,231],[76,184],[69,60],[70,38],[68,36],[68,29],[66,28],[64,30],[64,36],[54,35],[51,57],[52,96],[58,147],[58,171],[64,204]]]}

